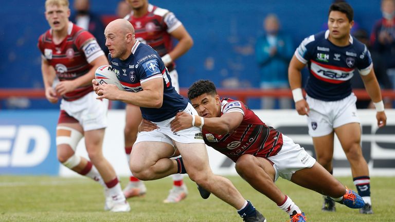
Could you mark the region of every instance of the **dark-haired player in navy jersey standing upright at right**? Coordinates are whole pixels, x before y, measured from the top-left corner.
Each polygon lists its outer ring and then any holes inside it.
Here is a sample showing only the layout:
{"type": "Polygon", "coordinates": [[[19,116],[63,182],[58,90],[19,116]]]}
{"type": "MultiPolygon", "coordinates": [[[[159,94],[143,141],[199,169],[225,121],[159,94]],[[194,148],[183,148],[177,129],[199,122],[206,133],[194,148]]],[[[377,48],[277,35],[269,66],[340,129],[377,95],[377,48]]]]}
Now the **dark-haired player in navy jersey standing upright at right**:
{"type": "MultiPolygon", "coordinates": [[[[342,144],[351,164],[358,193],[364,198],[361,213],[370,214],[370,178],[361,148],[361,125],[356,113],[356,97],[350,79],[358,69],[366,90],[376,107],[379,127],[386,125],[380,86],[373,71],[367,47],[350,35],[353,9],[347,3],[330,6],[329,30],[304,39],[296,49],[289,66],[289,81],[299,115],[307,115],[309,134],[313,138],[317,161],[333,172],[334,135],[342,144]],[[308,65],[310,77],[306,99],[301,91],[301,69],[308,65]]],[[[325,199],[324,211],[335,211],[334,202],[325,199]]]]}

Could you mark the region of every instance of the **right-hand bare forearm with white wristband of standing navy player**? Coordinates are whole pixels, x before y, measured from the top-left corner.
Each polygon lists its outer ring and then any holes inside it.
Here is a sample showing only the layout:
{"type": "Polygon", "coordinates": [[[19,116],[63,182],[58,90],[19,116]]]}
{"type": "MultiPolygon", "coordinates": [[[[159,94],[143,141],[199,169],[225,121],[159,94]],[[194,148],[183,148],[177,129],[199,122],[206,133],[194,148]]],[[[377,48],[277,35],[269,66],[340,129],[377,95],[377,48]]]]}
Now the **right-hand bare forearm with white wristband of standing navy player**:
{"type": "Polygon", "coordinates": [[[376,110],[376,119],[377,125],[379,127],[383,127],[387,124],[387,117],[384,112],[384,103],[381,97],[381,89],[379,82],[374,75],[373,68],[370,70],[369,74],[366,76],[361,75],[362,80],[364,81],[366,91],[368,92],[370,98],[372,99],[376,110]]]}

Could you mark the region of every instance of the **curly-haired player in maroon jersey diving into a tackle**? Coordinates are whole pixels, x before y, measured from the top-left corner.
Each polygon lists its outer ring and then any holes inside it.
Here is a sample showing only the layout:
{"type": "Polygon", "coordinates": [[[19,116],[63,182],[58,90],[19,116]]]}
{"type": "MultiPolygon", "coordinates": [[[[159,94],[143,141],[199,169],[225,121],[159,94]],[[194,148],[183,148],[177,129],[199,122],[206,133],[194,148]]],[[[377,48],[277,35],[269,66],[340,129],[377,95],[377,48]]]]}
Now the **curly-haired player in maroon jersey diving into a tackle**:
{"type": "MultiPolygon", "coordinates": [[[[275,185],[278,177],[328,195],[347,207],[364,206],[362,197],[343,186],[291,138],[267,126],[241,101],[221,100],[212,82],[193,83],[188,98],[199,116],[178,113],[171,122],[172,131],[191,125],[202,127],[204,142],[236,162],[238,174],[288,213],[292,221],[306,221],[306,217],[275,185]]],[[[156,127],[143,120],[139,130],[150,131],[156,127]]],[[[203,198],[208,197],[209,193],[199,190],[203,198]]]]}

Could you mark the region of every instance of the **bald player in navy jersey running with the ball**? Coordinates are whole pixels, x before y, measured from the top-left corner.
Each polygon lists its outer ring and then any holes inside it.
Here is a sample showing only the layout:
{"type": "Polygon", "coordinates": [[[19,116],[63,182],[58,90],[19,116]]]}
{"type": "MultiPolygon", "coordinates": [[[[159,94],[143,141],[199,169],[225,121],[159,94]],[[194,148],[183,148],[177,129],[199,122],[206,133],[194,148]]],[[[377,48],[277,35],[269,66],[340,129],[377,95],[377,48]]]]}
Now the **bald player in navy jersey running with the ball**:
{"type": "Polygon", "coordinates": [[[199,127],[191,126],[177,133],[171,131],[170,122],[178,112],[190,116],[197,113],[175,91],[158,53],[135,39],[134,28],[127,20],[111,22],[104,35],[110,50],[110,63],[127,91],[111,84],[99,85],[93,80],[97,99],[119,100],[139,106],[143,118],[160,126],[159,130],[137,135],[130,154],[133,175],[140,180],[154,180],[188,172],[197,184],[238,209],[244,221],[266,221],[228,179],[212,173],[199,127]],[[170,159],[180,154],[182,158],[170,159]]]}

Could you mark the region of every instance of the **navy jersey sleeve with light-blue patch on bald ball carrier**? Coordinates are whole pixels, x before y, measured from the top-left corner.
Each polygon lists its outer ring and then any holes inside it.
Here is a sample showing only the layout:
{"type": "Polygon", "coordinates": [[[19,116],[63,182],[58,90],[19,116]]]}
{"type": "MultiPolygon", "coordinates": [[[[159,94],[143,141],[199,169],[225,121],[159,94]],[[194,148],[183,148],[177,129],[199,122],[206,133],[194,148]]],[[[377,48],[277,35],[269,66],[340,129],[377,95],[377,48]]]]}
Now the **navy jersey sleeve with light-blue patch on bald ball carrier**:
{"type": "Polygon", "coordinates": [[[146,61],[143,61],[137,68],[137,71],[140,75],[140,83],[143,83],[148,80],[155,79],[155,78],[162,78],[161,75],[158,75],[158,74],[161,74],[161,72],[160,72],[160,68],[159,68],[158,59],[155,57],[156,57],[156,55],[152,54],[152,55],[149,55],[149,56],[141,59],[141,60],[146,60],[146,61]]]}

